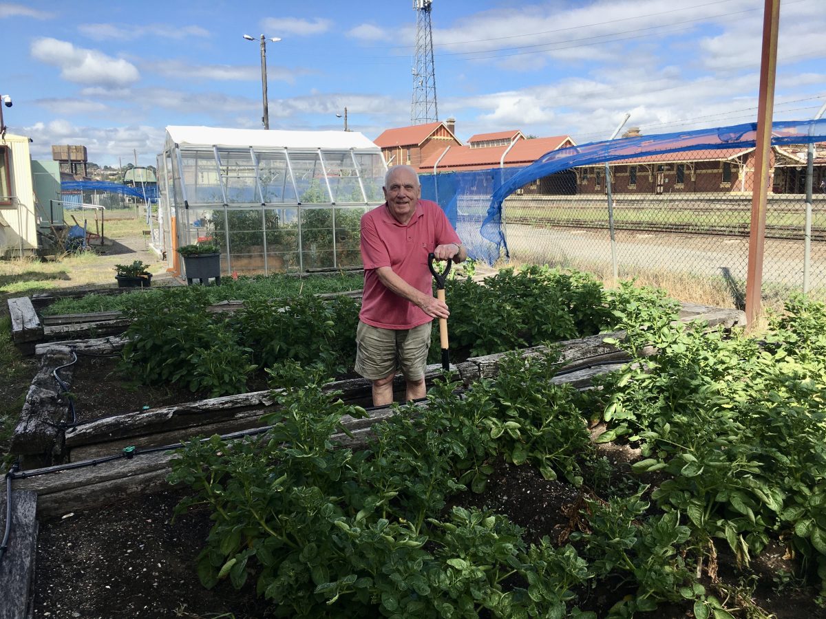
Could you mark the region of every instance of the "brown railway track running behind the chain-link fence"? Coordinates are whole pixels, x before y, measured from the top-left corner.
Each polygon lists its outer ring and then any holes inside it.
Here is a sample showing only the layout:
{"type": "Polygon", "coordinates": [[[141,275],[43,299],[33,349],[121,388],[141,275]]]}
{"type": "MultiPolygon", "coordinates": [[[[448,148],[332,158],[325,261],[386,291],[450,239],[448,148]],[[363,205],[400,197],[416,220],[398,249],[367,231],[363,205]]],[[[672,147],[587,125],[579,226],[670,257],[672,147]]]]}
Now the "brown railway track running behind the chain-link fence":
{"type": "MultiPolygon", "coordinates": [[[[593,220],[558,220],[553,218],[538,219],[536,217],[507,217],[508,224],[525,224],[542,228],[578,228],[607,230],[607,221],[593,220]]],[[[748,238],[748,224],[702,224],[691,222],[658,223],[652,221],[615,221],[616,230],[633,230],[634,232],[667,232],[672,234],[697,234],[701,236],[731,236],[748,238]]],[[[766,225],[767,239],[798,240],[804,237],[800,226],[766,225]]],[[[813,227],[811,231],[813,241],[826,241],[826,228],[813,227]]]]}

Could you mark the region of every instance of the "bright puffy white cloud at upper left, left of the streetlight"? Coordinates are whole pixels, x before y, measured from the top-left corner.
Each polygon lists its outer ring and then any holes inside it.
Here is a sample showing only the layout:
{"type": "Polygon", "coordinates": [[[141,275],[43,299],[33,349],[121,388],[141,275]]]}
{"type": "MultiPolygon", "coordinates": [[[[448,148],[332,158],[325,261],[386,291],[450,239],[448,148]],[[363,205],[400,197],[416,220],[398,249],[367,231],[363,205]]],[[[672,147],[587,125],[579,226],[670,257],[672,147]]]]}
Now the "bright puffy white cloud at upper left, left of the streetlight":
{"type": "Polygon", "coordinates": [[[60,76],[69,82],[118,86],[140,78],[134,64],[97,50],[76,47],[69,41],[36,39],[31,44],[31,55],[40,62],[59,67],[60,76]]]}

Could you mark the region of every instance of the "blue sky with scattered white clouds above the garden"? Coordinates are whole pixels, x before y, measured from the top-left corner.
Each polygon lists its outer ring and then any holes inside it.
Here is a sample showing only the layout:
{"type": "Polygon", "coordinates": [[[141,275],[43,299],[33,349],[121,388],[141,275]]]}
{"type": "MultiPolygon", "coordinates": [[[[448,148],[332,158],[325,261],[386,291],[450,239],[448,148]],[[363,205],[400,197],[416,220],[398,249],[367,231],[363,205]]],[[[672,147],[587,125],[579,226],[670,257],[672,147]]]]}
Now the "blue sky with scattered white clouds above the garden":
{"type": "MultiPolygon", "coordinates": [[[[411,125],[411,0],[2,2],[8,131],[84,144],[99,165],[154,165],[168,125],[271,130],[411,125]],[[78,7],[82,7],[79,9],[78,7]],[[244,40],[243,35],[255,40],[244,40]]],[[[521,130],[608,139],[757,120],[761,0],[433,0],[438,120],[458,139],[521,130]]],[[[775,120],[826,102],[824,0],[782,0],[775,120]]]]}

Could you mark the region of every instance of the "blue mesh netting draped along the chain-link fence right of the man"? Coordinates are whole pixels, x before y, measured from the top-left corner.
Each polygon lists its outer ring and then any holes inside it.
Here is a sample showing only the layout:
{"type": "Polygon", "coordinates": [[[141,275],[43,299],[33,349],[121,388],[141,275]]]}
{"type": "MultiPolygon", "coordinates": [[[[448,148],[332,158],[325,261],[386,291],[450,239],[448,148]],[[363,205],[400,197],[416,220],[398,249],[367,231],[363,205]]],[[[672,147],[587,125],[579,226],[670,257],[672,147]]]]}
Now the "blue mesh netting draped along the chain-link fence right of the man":
{"type": "MultiPolygon", "coordinates": [[[[502,203],[520,187],[555,172],[619,159],[689,150],[753,148],[757,123],[591,142],[552,150],[524,168],[420,174],[421,193],[439,202],[468,247],[468,254],[489,264],[508,248],[502,229],[502,203]],[[444,179],[444,180],[443,180],[444,179]]],[[[771,125],[771,144],[826,141],[826,119],[786,120],[771,125]]]]}

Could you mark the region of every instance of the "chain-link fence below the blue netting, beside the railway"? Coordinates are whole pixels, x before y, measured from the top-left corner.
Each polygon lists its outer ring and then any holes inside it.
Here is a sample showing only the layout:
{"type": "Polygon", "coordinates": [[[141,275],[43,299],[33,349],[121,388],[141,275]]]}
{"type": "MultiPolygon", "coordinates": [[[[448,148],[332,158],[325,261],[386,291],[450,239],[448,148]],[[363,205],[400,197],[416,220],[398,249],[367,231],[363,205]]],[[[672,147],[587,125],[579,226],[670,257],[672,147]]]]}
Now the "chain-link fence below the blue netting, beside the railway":
{"type": "MultiPolygon", "coordinates": [[[[826,298],[826,167],[814,166],[807,234],[805,154],[801,163],[799,155],[775,149],[772,159],[763,299],[779,305],[803,291],[804,281],[811,295],[826,298]]],[[[616,269],[620,279],[742,307],[753,163],[753,149],[693,151],[612,162],[607,174],[597,164],[540,178],[504,202],[510,259],[576,268],[605,281],[616,269]]]]}

